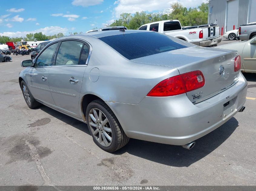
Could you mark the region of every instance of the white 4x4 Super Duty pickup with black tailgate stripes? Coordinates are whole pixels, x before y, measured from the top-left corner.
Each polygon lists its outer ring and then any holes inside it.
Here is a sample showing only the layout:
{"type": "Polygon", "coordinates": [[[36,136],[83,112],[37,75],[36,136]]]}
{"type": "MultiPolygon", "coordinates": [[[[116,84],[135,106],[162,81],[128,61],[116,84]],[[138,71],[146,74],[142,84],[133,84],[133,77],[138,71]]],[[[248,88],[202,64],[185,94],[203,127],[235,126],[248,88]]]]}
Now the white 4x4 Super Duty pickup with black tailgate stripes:
{"type": "Polygon", "coordinates": [[[217,46],[221,42],[218,25],[182,30],[179,20],[166,20],[144,24],[138,30],[164,33],[199,46],[217,46]]]}

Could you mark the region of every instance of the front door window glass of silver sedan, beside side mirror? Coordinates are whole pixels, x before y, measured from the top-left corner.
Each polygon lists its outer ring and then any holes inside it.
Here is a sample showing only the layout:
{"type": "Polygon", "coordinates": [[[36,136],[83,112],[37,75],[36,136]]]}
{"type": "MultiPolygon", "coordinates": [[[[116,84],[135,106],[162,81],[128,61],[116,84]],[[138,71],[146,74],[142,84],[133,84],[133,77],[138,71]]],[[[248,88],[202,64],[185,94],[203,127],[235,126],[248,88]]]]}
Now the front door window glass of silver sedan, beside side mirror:
{"type": "MultiPolygon", "coordinates": [[[[40,44],[39,44],[40,45],[40,44]]],[[[39,46],[38,45],[38,46],[39,46]]],[[[50,66],[52,65],[52,58],[58,43],[48,46],[37,58],[35,67],[50,66]]]]}

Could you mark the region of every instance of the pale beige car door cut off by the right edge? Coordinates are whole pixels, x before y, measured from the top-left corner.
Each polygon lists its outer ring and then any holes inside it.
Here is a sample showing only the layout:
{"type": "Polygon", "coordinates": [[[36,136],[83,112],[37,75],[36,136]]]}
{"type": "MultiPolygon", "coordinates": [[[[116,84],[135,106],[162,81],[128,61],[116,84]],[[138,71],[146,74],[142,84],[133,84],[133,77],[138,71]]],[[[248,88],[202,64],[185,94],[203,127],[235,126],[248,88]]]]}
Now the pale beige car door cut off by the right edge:
{"type": "MultiPolygon", "coordinates": [[[[248,40],[242,53],[244,70],[256,70],[256,37],[248,40]]],[[[249,72],[249,71],[248,71],[249,72]]]]}

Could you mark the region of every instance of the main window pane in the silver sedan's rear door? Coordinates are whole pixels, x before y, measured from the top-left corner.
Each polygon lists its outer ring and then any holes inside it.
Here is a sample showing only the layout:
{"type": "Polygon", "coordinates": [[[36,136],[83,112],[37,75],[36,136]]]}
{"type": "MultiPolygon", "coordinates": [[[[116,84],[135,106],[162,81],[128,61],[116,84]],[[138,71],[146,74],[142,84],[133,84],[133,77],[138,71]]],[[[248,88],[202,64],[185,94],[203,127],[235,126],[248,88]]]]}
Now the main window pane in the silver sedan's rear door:
{"type": "Polygon", "coordinates": [[[78,65],[83,43],[64,41],[58,50],[55,65],[78,65]]]}

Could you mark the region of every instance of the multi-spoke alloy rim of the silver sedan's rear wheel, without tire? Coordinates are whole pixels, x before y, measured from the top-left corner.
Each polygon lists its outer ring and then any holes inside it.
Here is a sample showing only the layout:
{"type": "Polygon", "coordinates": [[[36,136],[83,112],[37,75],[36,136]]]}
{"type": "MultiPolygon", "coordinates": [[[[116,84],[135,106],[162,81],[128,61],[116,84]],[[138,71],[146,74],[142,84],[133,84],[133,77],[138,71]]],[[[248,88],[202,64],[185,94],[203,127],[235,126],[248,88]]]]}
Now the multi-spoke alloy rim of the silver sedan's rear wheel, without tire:
{"type": "Polygon", "coordinates": [[[89,111],[88,125],[94,138],[104,147],[112,143],[112,129],[105,114],[97,109],[92,108],[89,111]]]}

